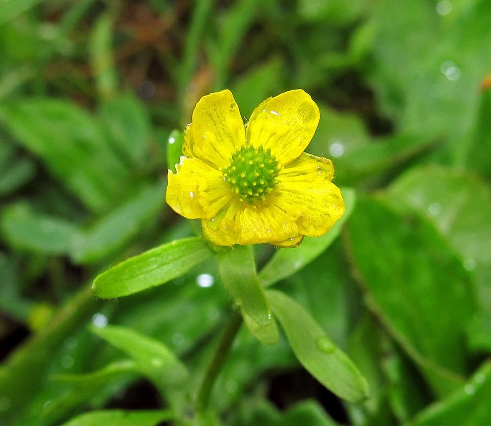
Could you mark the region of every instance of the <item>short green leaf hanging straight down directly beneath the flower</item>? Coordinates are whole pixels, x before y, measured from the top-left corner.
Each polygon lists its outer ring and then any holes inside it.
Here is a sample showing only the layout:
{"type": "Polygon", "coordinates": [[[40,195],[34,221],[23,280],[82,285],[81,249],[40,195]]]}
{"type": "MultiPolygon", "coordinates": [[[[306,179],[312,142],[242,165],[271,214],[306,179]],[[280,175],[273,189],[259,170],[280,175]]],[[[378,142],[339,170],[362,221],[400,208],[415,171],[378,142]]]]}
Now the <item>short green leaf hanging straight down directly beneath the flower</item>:
{"type": "Polygon", "coordinates": [[[271,312],[256,273],[251,246],[236,245],[219,255],[218,269],[223,285],[235,303],[262,326],[271,322],[271,312]]]}

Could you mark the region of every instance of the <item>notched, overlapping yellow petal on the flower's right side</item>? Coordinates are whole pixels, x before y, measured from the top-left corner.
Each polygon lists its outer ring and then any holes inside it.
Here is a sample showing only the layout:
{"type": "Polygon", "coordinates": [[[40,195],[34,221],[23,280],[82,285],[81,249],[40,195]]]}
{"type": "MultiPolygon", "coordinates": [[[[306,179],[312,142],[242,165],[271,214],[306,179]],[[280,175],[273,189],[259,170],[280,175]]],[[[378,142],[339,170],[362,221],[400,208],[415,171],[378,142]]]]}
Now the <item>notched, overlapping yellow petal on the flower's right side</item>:
{"type": "Polygon", "coordinates": [[[331,182],[333,173],[330,160],[305,153],[279,173],[276,204],[299,215],[299,234],[324,235],[343,215],[341,191],[331,182]]]}

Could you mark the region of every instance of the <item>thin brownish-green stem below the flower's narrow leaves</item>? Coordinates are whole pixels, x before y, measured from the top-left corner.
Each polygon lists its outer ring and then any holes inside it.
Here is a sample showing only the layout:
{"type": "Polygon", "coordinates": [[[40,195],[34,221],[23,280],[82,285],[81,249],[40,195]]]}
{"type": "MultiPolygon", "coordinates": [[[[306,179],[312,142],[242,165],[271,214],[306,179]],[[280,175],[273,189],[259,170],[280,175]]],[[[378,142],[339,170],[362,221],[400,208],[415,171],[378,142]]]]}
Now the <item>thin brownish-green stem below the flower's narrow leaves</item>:
{"type": "Polygon", "coordinates": [[[218,377],[218,373],[221,371],[228,352],[232,347],[232,343],[237,335],[242,324],[242,315],[238,310],[234,310],[228,319],[227,325],[223,330],[220,342],[218,343],[217,350],[213,356],[212,362],[208,366],[205,378],[201,384],[201,388],[198,392],[197,410],[205,411],[208,408],[210,402],[213,385],[218,377]]]}

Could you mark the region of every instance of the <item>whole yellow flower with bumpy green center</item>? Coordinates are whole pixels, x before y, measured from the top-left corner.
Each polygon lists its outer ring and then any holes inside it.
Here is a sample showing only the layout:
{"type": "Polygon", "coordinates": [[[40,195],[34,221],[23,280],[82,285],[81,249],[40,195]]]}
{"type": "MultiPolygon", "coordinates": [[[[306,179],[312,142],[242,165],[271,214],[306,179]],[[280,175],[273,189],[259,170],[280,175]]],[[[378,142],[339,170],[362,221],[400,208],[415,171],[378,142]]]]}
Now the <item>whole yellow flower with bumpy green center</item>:
{"type": "Polygon", "coordinates": [[[204,96],[192,113],[184,156],[168,173],[166,201],[201,219],[211,244],[295,247],[325,234],[344,213],[326,158],[304,153],[319,108],[303,90],[266,99],[244,121],[229,90],[204,96]]]}

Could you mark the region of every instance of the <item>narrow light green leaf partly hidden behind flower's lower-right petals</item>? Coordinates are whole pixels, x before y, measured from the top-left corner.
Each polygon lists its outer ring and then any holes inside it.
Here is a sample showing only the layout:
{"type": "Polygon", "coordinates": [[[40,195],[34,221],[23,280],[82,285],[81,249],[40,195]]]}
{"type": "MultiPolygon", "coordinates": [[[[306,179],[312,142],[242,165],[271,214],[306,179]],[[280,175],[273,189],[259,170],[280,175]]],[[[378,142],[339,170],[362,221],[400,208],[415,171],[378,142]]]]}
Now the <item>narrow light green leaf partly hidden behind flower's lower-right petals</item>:
{"type": "Polygon", "coordinates": [[[352,188],[343,188],[342,195],[346,211],[341,219],[321,237],[305,237],[300,246],[294,249],[278,249],[259,273],[259,280],[264,286],[274,284],[299,271],[323,253],[336,239],[355,206],[355,191],[352,188]]]}

